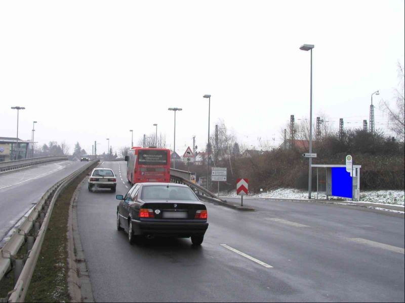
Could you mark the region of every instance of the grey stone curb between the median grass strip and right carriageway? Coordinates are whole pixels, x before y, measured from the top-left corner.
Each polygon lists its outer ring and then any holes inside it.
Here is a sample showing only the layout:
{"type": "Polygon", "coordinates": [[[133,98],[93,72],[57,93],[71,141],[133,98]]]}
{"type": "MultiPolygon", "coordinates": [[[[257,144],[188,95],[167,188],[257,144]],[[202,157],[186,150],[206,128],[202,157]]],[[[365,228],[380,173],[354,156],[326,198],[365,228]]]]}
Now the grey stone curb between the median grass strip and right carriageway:
{"type": "Polygon", "coordinates": [[[94,302],[93,290],[90,283],[82,241],[77,226],[77,197],[80,187],[86,177],[80,182],[70,200],[68,219],[68,289],[72,302],[94,302]]]}

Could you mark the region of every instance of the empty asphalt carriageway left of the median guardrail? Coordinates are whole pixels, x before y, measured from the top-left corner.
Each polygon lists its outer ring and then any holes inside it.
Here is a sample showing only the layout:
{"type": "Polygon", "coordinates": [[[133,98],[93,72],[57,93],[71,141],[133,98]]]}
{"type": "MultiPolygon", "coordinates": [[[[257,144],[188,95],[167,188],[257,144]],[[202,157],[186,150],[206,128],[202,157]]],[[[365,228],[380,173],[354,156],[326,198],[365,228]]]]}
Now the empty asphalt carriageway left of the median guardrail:
{"type": "Polygon", "coordinates": [[[52,185],[87,163],[51,162],[0,174],[0,247],[20,219],[52,185]]]}

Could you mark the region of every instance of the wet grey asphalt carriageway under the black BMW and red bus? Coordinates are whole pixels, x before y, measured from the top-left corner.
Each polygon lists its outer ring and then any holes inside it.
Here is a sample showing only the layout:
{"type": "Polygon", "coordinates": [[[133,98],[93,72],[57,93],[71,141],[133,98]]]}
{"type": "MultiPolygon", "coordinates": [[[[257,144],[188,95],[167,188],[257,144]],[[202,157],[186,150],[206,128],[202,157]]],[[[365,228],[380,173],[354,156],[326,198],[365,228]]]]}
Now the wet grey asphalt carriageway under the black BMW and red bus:
{"type": "MultiPolygon", "coordinates": [[[[125,162],[101,166],[125,194],[125,162]]],[[[404,301],[403,218],[292,201],[250,200],[256,212],[207,203],[201,247],[131,246],[115,227],[117,202],[82,184],[78,227],[96,301],[404,301]]]]}

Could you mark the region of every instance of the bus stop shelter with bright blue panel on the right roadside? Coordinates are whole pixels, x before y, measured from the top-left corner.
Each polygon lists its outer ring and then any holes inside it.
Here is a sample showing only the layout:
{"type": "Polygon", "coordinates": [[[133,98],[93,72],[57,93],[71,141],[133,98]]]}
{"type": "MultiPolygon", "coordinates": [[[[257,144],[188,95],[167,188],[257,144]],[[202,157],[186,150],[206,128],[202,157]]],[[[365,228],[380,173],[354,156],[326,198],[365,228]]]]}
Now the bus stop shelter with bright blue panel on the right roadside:
{"type": "MultiPolygon", "coordinates": [[[[337,196],[349,198],[355,201],[360,199],[360,168],[361,165],[353,165],[352,173],[346,171],[346,165],[339,164],[312,164],[316,168],[316,194],[319,184],[326,192],[326,198],[337,196]],[[319,181],[319,171],[325,172],[325,179],[319,181]]],[[[323,191],[322,190],[322,191],[323,191]]]]}

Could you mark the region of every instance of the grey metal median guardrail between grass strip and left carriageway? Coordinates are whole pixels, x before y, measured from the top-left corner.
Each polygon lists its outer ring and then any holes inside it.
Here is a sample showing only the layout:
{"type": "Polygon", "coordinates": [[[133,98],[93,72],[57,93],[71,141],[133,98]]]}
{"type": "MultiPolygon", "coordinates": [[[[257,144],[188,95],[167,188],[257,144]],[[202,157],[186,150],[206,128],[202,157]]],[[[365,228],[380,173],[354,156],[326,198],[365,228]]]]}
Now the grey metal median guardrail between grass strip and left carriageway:
{"type": "Polygon", "coordinates": [[[97,162],[99,162],[98,159],[89,162],[85,166],[71,173],[69,176],[56,182],[50,189],[48,189],[28,217],[16,232],[14,232],[3,248],[0,249],[0,280],[9,269],[14,269],[15,275],[15,286],[13,291],[9,292],[8,298],[0,298],[0,301],[24,301],[35,269],[36,261],[41,252],[42,243],[44,242],[45,233],[48,228],[56,199],[60,192],[68,186],[72,180],[97,162]],[[27,243],[27,255],[17,255],[24,243],[27,243]]]}

